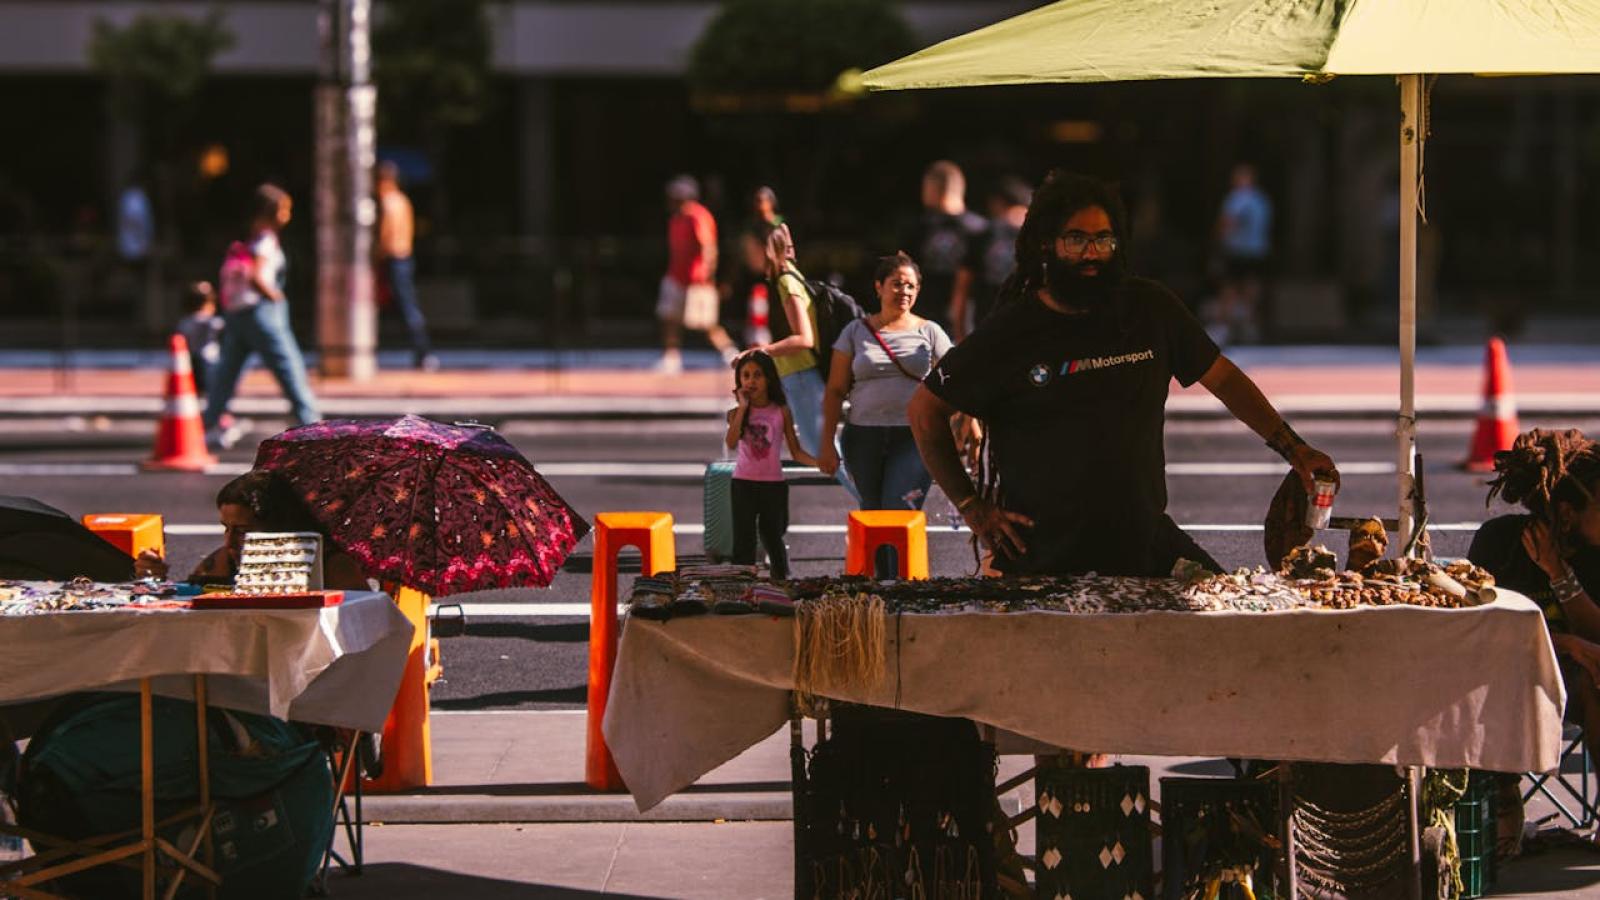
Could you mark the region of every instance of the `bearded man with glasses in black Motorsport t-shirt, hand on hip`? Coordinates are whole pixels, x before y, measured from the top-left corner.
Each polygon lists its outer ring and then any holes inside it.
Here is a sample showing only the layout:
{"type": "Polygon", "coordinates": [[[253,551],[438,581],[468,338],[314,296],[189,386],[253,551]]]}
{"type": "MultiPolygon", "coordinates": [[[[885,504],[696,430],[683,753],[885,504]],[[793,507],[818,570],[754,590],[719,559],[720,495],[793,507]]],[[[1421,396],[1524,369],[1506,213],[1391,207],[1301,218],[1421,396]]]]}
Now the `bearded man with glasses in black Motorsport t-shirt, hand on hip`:
{"type": "Polygon", "coordinates": [[[1000,306],[912,397],[928,471],[1002,572],[1163,577],[1178,559],[1221,570],[1166,516],[1173,378],[1205,384],[1307,490],[1314,472],[1338,477],[1171,291],[1128,274],[1125,223],[1114,189],[1053,171],[1000,306]],[[950,437],[957,412],[987,426],[992,472],[979,485],[950,437]]]}

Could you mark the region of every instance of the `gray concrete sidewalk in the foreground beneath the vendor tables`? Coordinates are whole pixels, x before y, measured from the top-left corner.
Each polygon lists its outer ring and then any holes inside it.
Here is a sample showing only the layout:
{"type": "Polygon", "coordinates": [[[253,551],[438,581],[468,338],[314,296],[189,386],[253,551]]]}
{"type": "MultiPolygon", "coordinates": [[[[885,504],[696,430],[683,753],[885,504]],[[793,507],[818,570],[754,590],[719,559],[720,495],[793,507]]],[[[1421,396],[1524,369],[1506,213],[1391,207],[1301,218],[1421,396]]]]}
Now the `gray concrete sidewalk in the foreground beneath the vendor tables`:
{"type": "MultiPolygon", "coordinates": [[[[790,894],[787,730],[640,815],[627,794],[584,785],[582,711],[435,713],[432,721],[435,786],[366,798],[370,868],[362,878],[336,876],[334,897],[790,894]]],[[[1150,767],[1155,799],[1165,775],[1230,772],[1219,759],[1120,761],[1150,767]]],[[[1005,756],[1000,778],[1030,764],[1005,756]]],[[[1032,785],[1003,798],[1013,812],[1032,802],[1032,785]]],[[[1531,804],[1528,815],[1547,812],[1531,804]]],[[[1032,826],[1019,838],[1030,854],[1032,826]]],[[[1502,868],[1494,895],[1600,898],[1600,852],[1563,849],[1515,860],[1502,868]]]]}

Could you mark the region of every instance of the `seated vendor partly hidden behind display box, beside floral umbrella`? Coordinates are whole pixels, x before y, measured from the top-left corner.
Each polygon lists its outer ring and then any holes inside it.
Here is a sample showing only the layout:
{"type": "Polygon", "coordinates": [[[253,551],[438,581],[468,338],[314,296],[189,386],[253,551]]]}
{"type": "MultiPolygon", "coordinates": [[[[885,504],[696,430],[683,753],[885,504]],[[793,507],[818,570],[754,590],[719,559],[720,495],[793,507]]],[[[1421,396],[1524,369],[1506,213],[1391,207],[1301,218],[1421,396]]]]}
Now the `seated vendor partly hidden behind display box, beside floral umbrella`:
{"type": "MultiPolygon", "coordinates": [[[[232,581],[238,552],[248,532],[318,532],[323,540],[323,586],[333,591],[366,591],[370,585],[360,564],[328,540],[328,532],[312,519],[294,490],[274,472],[250,471],[222,485],[216,493],[222,520],[222,546],[195,565],[186,581],[206,585],[232,581]]],[[[144,551],[133,562],[139,578],[166,578],[166,560],[144,551]]]]}

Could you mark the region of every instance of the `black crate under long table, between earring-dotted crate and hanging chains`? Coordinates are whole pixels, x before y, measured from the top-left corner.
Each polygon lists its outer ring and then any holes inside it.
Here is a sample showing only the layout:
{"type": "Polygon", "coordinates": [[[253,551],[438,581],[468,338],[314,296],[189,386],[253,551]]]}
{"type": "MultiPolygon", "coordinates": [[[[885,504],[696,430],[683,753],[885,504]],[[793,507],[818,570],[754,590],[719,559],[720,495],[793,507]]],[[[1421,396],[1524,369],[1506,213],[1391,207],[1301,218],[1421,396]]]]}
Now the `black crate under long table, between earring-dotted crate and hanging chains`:
{"type": "MultiPolygon", "coordinates": [[[[1278,785],[1254,778],[1162,778],[1162,897],[1205,897],[1213,879],[1248,871],[1258,900],[1278,897],[1278,785]]],[[[1222,881],[1219,900],[1245,892],[1222,881]]]]}

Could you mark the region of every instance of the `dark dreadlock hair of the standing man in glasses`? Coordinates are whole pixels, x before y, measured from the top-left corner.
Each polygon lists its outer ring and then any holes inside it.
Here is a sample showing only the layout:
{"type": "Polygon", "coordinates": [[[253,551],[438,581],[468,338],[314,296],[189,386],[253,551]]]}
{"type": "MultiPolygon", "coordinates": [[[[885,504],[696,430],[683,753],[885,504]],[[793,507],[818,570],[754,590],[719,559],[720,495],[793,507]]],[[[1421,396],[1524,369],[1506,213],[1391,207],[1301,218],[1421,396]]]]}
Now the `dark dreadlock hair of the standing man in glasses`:
{"type": "Polygon", "coordinates": [[[1051,170],[1034,192],[1027,218],[1016,234],[1016,266],[1000,285],[997,304],[1038,295],[1045,288],[1045,264],[1056,253],[1056,237],[1061,226],[1078,210],[1099,207],[1110,218],[1117,235],[1115,264],[1126,266],[1128,258],[1128,210],[1115,184],[1107,184],[1088,175],[1061,168],[1051,170]]]}

